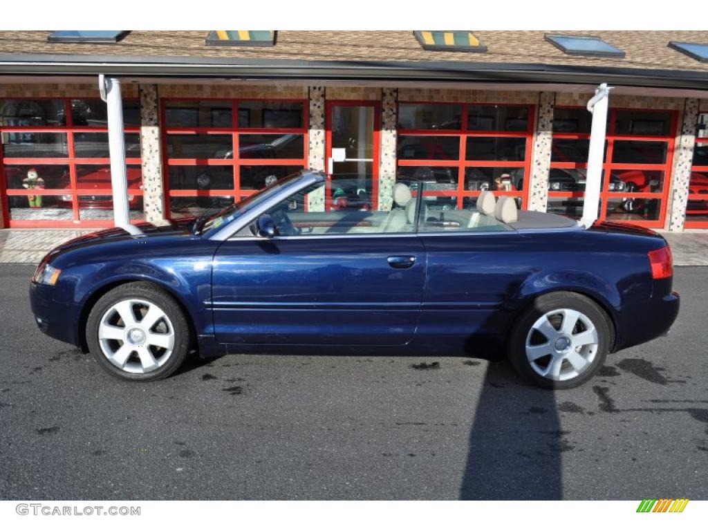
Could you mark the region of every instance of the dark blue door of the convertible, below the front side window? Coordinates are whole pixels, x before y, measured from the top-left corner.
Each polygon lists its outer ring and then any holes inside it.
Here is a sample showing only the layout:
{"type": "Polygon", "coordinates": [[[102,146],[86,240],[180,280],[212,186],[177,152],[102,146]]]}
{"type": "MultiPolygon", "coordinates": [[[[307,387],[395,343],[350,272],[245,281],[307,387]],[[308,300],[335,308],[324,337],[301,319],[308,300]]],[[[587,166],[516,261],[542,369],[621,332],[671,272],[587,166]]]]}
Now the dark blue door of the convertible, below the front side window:
{"type": "Polygon", "coordinates": [[[415,235],[225,241],[212,275],[217,341],[407,343],[418,323],[425,269],[415,235]],[[396,268],[392,256],[415,261],[396,268]]]}

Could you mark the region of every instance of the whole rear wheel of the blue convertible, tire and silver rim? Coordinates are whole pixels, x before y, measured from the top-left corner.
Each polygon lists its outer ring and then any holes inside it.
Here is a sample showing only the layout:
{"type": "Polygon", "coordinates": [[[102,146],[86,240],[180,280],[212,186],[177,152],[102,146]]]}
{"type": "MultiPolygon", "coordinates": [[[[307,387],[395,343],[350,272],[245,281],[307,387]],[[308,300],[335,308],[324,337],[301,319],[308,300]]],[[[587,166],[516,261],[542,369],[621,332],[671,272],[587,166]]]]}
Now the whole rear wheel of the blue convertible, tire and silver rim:
{"type": "Polygon", "coordinates": [[[605,362],[611,327],[603,309],[583,295],[542,295],[516,321],[508,358],[521,377],[539,387],[578,387],[605,362]]]}

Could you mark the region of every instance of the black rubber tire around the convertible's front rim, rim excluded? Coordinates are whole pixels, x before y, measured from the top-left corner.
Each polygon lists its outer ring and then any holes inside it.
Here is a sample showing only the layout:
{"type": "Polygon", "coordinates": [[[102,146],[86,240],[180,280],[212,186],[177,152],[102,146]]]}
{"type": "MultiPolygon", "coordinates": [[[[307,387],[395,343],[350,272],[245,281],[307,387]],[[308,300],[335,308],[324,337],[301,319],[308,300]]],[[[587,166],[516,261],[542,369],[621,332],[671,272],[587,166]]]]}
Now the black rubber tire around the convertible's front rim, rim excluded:
{"type": "Polygon", "coordinates": [[[115,287],[98,299],[98,302],[96,302],[91,309],[91,313],[89,313],[89,319],[86,320],[86,343],[89,346],[91,355],[93,355],[93,358],[98,362],[98,365],[101,365],[110,375],[134,382],[152,382],[173,374],[173,372],[182,365],[189,353],[191,341],[190,326],[179,304],[177,304],[169,293],[161,290],[161,288],[151,282],[130,282],[115,287]],[[121,370],[108,360],[101,348],[101,343],[98,338],[98,329],[101,324],[101,319],[103,319],[104,314],[115,304],[128,299],[142,299],[151,304],[156,304],[168,317],[171,324],[171,329],[174,334],[174,344],[171,349],[171,354],[169,354],[168,359],[164,361],[164,365],[152,370],[152,372],[137,374],[121,370]]]}

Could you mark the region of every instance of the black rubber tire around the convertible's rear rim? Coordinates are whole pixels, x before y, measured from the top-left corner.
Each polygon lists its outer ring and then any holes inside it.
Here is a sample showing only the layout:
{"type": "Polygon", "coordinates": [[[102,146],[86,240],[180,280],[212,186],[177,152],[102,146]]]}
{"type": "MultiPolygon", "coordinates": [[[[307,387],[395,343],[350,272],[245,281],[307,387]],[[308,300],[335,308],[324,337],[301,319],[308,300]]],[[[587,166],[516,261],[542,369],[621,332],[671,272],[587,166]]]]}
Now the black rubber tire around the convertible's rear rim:
{"type": "MultiPolygon", "coordinates": [[[[581,321],[578,322],[576,326],[578,326],[576,330],[580,330],[584,325],[581,321]]],[[[554,325],[554,328],[559,329],[559,326],[554,325]]],[[[507,356],[516,372],[527,382],[545,389],[572,389],[573,387],[578,387],[587,382],[600,370],[600,367],[602,367],[605,362],[605,358],[607,358],[607,353],[609,353],[610,348],[612,348],[613,342],[614,325],[610,317],[605,313],[605,310],[598,306],[597,303],[578,293],[554,292],[538,297],[518,316],[518,319],[512,327],[507,343],[507,356]],[[532,336],[532,333],[534,333],[532,332],[534,324],[545,314],[559,309],[581,312],[581,314],[586,316],[595,326],[598,336],[597,346],[587,347],[592,350],[592,353],[588,353],[588,350],[583,353],[587,358],[589,358],[590,355],[593,356],[590,363],[583,368],[582,372],[579,372],[578,375],[560,380],[544,377],[539,374],[534,367],[539,369],[543,368],[542,364],[544,358],[539,358],[539,360],[536,360],[535,365],[532,365],[532,362],[530,362],[526,354],[527,339],[533,341],[532,338],[535,338],[535,336],[532,336]],[[539,365],[541,365],[541,367],[539,367],[539,365]]],[[[541,339],[539,343],[544,342],[541,339]]],[[[551,343],[550,339],[549,343],[551,343]]],[[[532,346],[536,344],[537,343],[530,343],[532,346]]],[[[571,350],[568,351],[568,354],[571,353],[571,350]]],[[[563,355],[560,357],[563,358],[563,355]]],[[[548,358],[548,363],[550,363],[550,359],[551,358],[548,358]]],[[[570,362],[565,360],[562,362],[561,367],[564,367],[563,370],[570,374],[572,374],[572,370],[574,370],[570,362]]]]}

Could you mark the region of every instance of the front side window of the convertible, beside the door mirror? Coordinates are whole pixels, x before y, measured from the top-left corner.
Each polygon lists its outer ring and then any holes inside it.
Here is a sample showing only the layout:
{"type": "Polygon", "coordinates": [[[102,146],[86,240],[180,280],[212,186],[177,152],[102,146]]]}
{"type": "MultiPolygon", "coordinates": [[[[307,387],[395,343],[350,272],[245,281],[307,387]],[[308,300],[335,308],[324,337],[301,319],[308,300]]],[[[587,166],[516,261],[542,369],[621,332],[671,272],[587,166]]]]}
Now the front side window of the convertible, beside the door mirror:
{"type": "Polygon", "coordinates": [[[417,200],[407,185],[397,191],[389,209],[379,208],[370,181],[335,179],[300,190],[266,213],[276,236],[413,233],[417,200]]]}

